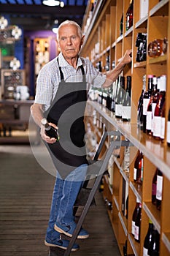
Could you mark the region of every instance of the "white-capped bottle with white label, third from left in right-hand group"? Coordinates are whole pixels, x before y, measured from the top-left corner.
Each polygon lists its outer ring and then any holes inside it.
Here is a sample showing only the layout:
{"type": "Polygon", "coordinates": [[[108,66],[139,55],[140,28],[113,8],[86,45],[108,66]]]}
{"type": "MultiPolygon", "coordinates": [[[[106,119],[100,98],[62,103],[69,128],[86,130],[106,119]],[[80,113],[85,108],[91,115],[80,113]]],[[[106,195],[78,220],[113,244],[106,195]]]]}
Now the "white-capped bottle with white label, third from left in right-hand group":
{"type": "Polygon", "coordinates": [[[152,102],[153,102],[154,95],[156,93],[157,93],[157,78],[153,77],[150,101],[147,105],[147,124],[146,124],[147,135],[152,135],[152,102]]]}

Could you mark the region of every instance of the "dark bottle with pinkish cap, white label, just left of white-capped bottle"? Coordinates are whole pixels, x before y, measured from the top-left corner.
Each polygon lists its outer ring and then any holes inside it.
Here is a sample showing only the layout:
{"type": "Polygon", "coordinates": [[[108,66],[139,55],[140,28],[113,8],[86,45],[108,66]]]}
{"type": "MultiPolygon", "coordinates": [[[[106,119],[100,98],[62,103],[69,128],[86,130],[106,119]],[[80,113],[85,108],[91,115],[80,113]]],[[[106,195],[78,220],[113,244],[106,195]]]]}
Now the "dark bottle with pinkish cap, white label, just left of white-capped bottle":
{"type": "Polygon", "coordinates": [[[146,129],[147,129],[147,107],[150,102],[152,78],[153,78],[153,75],[148,75],[147,91],[144,92],[144,97],[143,97],[143,132],[146,132],[146,129]]]}

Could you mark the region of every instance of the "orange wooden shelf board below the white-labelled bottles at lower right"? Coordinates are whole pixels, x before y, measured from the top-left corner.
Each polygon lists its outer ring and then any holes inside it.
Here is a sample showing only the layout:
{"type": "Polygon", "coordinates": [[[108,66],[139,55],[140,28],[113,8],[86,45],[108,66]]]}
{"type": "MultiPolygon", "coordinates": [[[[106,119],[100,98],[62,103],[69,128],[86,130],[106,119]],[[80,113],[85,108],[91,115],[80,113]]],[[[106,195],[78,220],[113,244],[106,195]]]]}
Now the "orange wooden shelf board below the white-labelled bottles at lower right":
{"type": "Polygon", "coordinates": [[[151,202],[143,203],[143,208],[147,216],[152,220],[158,233],[161,233],[161,211],[158,211],[151,202]]]}

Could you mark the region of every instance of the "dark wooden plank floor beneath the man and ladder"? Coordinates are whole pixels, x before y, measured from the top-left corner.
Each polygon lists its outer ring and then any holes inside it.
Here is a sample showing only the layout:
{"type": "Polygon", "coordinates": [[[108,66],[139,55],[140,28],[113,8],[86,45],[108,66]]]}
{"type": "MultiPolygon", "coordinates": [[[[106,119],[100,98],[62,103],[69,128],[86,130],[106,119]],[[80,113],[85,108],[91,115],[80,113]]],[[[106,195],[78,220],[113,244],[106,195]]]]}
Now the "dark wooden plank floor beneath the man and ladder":
{"type": "MultiPolygon", "coordinates": [[[[0,255],[47,256],[44,245],[55,177],[45,171],[29,146],[0,146],[0,255]]],[[[101,194],[83,227],[90,237],[77,241],[75,256],[119,256],[101,194]]]]}

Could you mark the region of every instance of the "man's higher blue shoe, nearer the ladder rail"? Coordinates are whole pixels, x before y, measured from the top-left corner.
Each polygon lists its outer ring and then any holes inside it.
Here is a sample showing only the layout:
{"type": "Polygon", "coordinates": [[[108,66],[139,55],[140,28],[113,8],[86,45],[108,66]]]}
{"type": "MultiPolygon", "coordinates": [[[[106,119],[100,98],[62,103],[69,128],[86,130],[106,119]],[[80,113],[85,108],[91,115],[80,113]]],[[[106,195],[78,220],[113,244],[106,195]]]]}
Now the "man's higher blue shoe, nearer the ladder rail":
{"type": "MultiPolygon", "coordinates": [[[[71,225],[64,226],[64,225],[59,224],[58,222],[55,222],[55,225],[54,225],[54,229],[56,231],[58,231],[59,233],[63,233],[64,235],[69,236],[69,237],[72,237],[75,228],[76,228],[75,223],[73,223],[72,226],[71,225]]],[[[88,237],[89,237],[88,232],[86,230],[84,230],[83,228],[81,228],[80,233],[77,236],[77,238],[85,239],[88,237]]]]}

